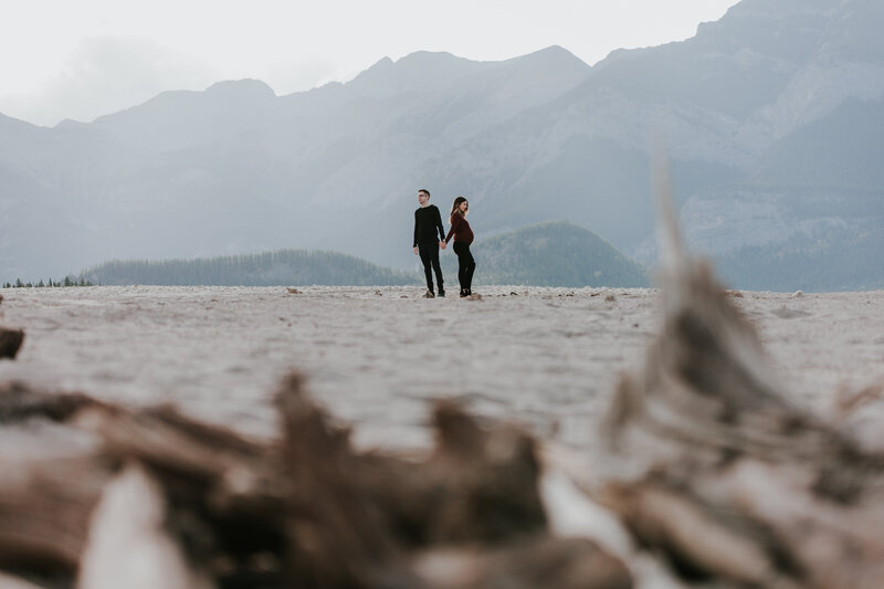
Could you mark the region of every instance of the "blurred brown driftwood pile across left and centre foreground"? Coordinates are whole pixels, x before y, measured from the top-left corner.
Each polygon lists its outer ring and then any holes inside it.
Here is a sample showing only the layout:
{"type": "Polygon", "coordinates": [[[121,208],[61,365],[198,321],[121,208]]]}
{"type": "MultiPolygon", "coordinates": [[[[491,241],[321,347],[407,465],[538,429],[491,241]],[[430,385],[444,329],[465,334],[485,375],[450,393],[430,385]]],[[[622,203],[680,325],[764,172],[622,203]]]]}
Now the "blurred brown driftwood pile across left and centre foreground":
{"type": "Polygon", "coordinates": [[[632,587],[592,541],[550,535],[525,432],[440,402],[430,455],[357,452],[302,388],[283,383],[273,442],[169,407],[0,389],[4,428],[93,441],[0,454],[0,572],[82,589],[632,587]]]}

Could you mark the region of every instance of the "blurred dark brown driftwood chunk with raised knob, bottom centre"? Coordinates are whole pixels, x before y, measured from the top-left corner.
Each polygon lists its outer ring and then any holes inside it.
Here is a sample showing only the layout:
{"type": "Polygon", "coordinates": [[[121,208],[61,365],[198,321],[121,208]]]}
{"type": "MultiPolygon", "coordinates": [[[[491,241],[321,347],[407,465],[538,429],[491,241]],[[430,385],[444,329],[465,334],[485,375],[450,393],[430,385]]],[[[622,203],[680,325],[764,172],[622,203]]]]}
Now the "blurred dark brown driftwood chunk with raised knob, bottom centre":
{"type": "Polygon", "coordinates": [[[504,544],[546,532],[533,439],[507,425],[482,428],[445,401],[436,404],[433,424],[429,459],[367,454],[352,471],[398,543],[504,544]]]}

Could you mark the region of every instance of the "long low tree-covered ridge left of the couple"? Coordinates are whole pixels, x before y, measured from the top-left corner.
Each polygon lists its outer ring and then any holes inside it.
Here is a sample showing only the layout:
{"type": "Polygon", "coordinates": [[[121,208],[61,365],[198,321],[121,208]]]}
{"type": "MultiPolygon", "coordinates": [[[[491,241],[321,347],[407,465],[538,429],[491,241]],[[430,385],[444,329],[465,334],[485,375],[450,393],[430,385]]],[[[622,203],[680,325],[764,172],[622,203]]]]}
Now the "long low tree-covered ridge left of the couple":
{"type": "Polygon", "coordinates": [[[337,252],[278,250],[193,260],[114,260],[86,270],[86,280],[106,285],[169,286],[385,286],[414,277],[337,252]]]}

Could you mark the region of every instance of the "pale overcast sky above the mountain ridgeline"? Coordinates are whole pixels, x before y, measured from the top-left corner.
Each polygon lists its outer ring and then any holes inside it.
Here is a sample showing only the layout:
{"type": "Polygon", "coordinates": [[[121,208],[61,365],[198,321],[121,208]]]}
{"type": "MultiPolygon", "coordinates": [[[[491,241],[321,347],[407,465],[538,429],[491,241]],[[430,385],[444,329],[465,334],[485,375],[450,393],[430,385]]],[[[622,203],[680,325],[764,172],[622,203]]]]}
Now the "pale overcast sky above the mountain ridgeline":
{"type": "Polygon", "coordinates": [[[0,113],[90,122],[167,90],[254,77],[277,95],[383,56],[505,60],[561,45],[594,64],[693,36],[737,0],[0,0],[0,113]]]}

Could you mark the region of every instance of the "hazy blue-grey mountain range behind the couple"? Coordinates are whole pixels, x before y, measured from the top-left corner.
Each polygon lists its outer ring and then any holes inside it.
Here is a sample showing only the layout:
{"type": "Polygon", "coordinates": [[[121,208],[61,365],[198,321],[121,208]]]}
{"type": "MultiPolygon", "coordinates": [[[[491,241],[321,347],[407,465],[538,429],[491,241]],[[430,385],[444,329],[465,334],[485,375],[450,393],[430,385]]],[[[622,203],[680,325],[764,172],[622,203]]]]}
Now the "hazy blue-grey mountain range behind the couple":
{"type": "Polygon", "coordinates": [[[411,269],[415,191],[492,236],[568,220],[652,264],[649,137],[727,281],[884,287],[884,3],[744,0],[590,67],[418,52],[346,84],[167,92],[91,124],[0,115],[0,278],[286,248],[411,269]]]}

